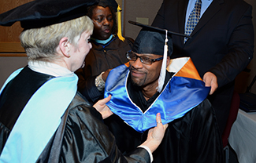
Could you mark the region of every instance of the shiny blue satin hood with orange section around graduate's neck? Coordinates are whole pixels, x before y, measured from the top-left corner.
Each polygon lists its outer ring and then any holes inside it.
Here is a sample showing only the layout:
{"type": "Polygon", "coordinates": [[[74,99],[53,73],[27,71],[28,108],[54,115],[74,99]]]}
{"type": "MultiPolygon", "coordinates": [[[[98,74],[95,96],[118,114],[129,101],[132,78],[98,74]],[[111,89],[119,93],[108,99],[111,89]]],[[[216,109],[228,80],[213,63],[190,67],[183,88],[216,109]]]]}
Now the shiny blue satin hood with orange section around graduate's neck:
{"type": "Polygon", "coordinates": [[[210,87],[199,77],[191,59],[173,75],[154,103],[143,111],[132,102],[128,95],[128,63],[114,68],[106,80],[104,96],[112,95],[107,105],[114,114],[121,117],[138,132],[144,132],[157,125],[156,114],[161,114],[163,124],[181,118],[187,111],[206,99],[210,87]]]}

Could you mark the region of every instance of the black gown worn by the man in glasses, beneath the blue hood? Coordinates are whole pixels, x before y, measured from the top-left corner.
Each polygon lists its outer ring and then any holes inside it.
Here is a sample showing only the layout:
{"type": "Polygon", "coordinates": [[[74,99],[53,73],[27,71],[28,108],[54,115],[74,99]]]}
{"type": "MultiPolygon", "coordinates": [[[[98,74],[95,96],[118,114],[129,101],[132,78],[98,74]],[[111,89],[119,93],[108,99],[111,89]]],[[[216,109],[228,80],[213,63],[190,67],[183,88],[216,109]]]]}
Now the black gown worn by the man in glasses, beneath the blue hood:
{"type": "MultiPolygon", "coordinates": [[[[165,79],[165,84],[170,74],[165,79]]],[[[128,93],[132,101],[142,110],[158,97],[158,92],[146,101],[142,92],[131,85],[128,79],[128,93]]],[[[109,130],[117,139],[117,147],[124,154],[138,146],[147,138],[147,131],[136,132],[117,115],[105,120],[109,130]]],[[[153,153],[155,163],[217,163],[223,162],[222,140],[217,118],[209,100],[188,111],[182,118],[169,123],[165,137],[153,153]]]]}

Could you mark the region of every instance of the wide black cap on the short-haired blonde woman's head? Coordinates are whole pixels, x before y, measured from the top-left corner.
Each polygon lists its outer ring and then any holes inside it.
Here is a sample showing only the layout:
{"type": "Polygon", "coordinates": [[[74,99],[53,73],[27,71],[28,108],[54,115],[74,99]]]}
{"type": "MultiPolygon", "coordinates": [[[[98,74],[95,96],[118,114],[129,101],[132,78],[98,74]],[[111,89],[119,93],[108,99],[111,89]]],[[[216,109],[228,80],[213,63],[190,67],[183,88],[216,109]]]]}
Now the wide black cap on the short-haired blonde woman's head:
{"type": "Polygon", "coordinates": [[[0,14],[0,25],[20,21],[24,29],[46,27],[85,16],[87,6],[96,3],[98,0],[35,0],[0,14]]]}

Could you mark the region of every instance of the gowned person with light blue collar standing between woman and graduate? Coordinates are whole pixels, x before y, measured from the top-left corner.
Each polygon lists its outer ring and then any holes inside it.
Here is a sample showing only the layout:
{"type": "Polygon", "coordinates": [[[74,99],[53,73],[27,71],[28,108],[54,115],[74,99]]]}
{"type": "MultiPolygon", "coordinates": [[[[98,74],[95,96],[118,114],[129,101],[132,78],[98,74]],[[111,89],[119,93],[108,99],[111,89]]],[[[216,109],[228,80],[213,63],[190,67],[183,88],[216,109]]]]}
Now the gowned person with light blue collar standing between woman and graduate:
{"type": "Polygon", "coordinates": [[[132,38],[117,37],[117,7],[115,0],[100,0],[98,5],[88,8],[87,15],[94,23],[92,48],[84,60],[85,66],[76,74],[79,77],[78,90],[93,103],[103,98],[109,69],[128,62],[125,53],[134,42],[132,38]]]}

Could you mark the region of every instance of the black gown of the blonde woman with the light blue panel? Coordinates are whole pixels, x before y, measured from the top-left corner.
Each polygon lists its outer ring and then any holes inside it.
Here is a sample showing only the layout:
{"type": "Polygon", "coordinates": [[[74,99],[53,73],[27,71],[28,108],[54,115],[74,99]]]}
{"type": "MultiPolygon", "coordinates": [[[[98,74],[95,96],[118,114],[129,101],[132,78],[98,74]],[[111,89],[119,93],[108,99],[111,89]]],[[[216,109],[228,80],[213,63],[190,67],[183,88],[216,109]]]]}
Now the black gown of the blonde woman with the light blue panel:
{"type": "MultiPolygon", "coordinates": [[[[24,67],[6,85],[0,96],[0,154],[25,104],[50,78],[54,77],[24,67]]],[[[42,116],[47,114],[50,113],[42,116]]],[[[102,123],[101,114],[76,93],[37,162],[150,162],[150,156],[147,150],[137,148],[124,157],[113,135],[102,123]]]]}

